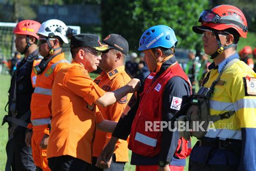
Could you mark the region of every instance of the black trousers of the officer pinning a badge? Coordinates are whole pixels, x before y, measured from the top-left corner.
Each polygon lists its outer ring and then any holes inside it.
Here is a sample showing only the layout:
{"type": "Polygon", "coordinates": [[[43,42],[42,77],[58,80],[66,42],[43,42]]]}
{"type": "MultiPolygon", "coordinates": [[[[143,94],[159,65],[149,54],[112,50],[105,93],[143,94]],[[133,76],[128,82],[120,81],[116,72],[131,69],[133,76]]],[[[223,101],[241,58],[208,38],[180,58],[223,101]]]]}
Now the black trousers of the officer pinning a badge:
{"type": "Polygon", "coordinates": [[[62,155],[48,159],[51,171],[89,171],[91,165],[83,160],[73,158],[70,155],[62,155]]]}

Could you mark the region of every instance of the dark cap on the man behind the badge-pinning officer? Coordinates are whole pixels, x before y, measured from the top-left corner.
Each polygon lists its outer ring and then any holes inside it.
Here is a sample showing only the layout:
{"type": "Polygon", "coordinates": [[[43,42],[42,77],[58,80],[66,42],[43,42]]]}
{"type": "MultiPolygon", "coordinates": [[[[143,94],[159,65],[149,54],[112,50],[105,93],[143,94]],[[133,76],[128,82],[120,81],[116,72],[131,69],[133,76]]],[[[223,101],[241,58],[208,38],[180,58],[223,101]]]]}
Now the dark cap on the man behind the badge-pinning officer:
{"type": "Polygon", "coordinates": [[[129,52],[129,44],[125,38],[123,38],[121,35],[117,34],[111,34],[107,37],[105,37],[102,40],[103,44],[108,45],[108,47],[111,49],[116,49],[125,55],[129,52]]]}

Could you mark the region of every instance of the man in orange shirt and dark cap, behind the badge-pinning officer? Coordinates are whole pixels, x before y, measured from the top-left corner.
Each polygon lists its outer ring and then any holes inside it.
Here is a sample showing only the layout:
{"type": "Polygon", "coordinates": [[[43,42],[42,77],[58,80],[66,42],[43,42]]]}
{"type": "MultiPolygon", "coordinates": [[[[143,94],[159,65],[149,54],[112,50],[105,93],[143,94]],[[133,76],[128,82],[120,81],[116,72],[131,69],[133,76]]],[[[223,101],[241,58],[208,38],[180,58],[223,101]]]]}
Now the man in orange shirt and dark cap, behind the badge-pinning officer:
{"type": "MultiPolygon", "coordinates": [[[[110,50],[102,53],[102,60],[99,62],[102,73],[95,79],[95,83],[103,90],[109,92],[117,90],[127,84],[131,78],[125,72],[125,57],[129,51],[129,44],[125,38],[117,34],[111,34],[103,40],[103,44],[109,46],[110,50]]],[[[113,105],[100,107],[104,119],[118,121],[122,115],[127,101],[130,100],[132,94],[126,95],[113,105]]],[[[92,153],[92,170],[103,170],[96,167],[97,157],[102,152],[104,145],[109,142],[111,133],[96,131],[95,141],[93,144],[92,153]]],[[[129,161],[128,143],[125,140],[120,140],[116,144],[117,150],[113,156],[113,163],[110,169],[113,171],[124,170],[125,162],[129,161]]]]}

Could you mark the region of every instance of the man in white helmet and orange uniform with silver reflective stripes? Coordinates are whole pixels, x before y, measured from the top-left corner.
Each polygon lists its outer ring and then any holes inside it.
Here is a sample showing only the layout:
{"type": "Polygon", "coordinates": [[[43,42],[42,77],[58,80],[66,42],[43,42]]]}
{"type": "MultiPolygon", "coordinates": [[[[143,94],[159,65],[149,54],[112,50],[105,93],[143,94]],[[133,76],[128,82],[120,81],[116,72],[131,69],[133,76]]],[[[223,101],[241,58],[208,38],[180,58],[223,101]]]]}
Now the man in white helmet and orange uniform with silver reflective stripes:
{"type": "MultiPolygon", "coordinates": [[[[50,170],[46,159],[46,146],[51,120],[51,92],[57,72],[64,65],[69,64],[62,52],[63,43],[69,43],[66,37],[67,30],[68,27],[57,19],[47,20],[38,30],[39,53],[44,59],[33,68],[37,80],[31,100],[32,156],[38,170],[50,170]]],[[[31,135],[27,134],[27,136],[29,138],[31,135]]]]}

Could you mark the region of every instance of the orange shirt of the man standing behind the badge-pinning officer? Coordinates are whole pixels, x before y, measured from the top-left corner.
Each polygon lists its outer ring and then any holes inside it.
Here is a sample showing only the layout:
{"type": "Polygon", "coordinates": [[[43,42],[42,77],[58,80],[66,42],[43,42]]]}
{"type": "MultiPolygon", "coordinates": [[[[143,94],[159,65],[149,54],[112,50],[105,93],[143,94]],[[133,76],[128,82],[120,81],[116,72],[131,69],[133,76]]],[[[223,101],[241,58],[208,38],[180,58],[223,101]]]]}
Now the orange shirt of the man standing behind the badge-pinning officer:
{"type": "MultiPolygon", "coordinates": [[[[114,91],[120,87],[126,85],[131,78],[125,72],[124,66],[119,66],[116,69],[105,73],[102,72],[100,75],[95,79],[95,83],[99,85],[105,91],[114,91]]],[[[132,93],[127,94],[118,102],[114,103],[113,105],[109,105],[107,107],[100,107],[99,110],[102,112],[104,119],[112,120],[118,122],[120,116],[122,115],[124,108],[127,102],[130,100],[132,93]]],[[[111,138],[111,133],[106,133],[103,131],[96,131],[95,141],[93,143],[93,156],[98,157],[102,152],[103,147],[109,142],[111,138]]],[[[128,162],[129,155],[128,155],[128,148],[127,148],[127,141],[119,140],[116,144],[116,161],[119,162],[128,162]]]]}

